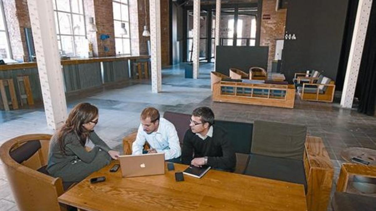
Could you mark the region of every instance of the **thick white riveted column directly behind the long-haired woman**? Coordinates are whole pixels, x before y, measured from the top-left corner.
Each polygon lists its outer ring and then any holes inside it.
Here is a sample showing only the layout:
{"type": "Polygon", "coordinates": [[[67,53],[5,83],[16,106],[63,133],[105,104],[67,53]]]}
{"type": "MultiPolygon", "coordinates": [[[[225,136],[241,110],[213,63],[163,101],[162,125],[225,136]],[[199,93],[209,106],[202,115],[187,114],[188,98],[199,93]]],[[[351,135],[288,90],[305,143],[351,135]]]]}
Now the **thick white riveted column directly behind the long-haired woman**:
{"type": "Polygon", "coordinates": [[[67,102],[52,0],[28,0],[27,3],[47,127],[56,130],[67,118],[67,102]]]}

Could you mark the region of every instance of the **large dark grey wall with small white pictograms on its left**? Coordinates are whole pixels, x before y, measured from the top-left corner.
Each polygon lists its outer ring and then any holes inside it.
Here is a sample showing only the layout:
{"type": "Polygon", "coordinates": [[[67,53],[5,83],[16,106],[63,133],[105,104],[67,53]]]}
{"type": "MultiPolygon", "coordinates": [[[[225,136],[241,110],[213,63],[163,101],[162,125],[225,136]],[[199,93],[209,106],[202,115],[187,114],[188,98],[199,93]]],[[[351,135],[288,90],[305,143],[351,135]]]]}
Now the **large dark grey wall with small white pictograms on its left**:
{"type": "Polygon", "coordinates": [[[348,0],[289,0],[282,73],[291,81],[295,72],[315,69],[335,80],[340,60],[348,0]]]}

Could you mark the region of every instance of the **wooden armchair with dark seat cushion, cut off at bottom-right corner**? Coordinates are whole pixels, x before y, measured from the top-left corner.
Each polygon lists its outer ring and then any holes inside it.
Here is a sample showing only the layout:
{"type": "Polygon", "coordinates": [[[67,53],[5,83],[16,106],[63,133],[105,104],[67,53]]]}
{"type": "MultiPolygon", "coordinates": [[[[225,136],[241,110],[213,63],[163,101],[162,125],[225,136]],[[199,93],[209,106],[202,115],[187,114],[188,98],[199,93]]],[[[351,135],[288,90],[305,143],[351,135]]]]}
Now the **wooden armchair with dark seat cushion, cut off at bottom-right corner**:
{"type": "MultiPolygon", "coordinates": [[[[354,176],[370,180],[376,179],[376,166],[344,163],[337,181],[337,192],[332,199],[334,211],[374,211],[376,210],[376,193],[365,195],[349,185],[354,176]]],[[[372,185],[372,184],[371,184],[372,185]]],[[[376,185],[376,184],[373,184],[376,185]]]]}

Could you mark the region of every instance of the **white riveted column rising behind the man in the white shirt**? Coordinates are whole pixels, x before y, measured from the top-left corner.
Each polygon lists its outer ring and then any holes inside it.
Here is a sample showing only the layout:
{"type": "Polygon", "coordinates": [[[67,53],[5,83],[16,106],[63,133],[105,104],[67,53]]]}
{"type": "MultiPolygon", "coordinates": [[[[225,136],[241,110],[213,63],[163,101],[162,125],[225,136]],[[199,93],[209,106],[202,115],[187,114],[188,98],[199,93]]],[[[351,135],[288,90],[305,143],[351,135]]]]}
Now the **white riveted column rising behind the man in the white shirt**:
{"type": "Polygon", "coordinates": [[[149,1],[150,11],[150,48],[152,60],[152,92],[162,91],[162,51],[161,51],[161,2],[149,1]]]}

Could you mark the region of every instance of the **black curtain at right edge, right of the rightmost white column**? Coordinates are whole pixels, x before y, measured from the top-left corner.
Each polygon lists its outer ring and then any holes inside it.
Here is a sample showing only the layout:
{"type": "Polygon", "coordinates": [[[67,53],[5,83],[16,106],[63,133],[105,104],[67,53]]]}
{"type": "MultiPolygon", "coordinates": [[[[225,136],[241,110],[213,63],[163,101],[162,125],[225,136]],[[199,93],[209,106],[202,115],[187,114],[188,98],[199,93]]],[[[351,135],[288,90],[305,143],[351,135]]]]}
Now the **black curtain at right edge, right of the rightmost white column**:
{"type": "Polygon", "coordinates": [[[359,98],[358,112],[373,116],[376,99],[376,1],[372,2],[367,35],[356,85],[359,98]]]}

